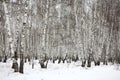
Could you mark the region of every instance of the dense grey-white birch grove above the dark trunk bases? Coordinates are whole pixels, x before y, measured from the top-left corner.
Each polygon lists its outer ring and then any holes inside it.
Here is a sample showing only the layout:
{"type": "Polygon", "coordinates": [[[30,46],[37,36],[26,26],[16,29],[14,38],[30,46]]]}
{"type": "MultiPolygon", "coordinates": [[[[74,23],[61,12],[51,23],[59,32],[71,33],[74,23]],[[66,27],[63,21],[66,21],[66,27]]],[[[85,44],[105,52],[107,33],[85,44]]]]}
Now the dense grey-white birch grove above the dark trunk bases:
{"type": "Polygon", "coordinates": [[[120,0],[0,0],[0,55],[120,63],[120,0]]]}

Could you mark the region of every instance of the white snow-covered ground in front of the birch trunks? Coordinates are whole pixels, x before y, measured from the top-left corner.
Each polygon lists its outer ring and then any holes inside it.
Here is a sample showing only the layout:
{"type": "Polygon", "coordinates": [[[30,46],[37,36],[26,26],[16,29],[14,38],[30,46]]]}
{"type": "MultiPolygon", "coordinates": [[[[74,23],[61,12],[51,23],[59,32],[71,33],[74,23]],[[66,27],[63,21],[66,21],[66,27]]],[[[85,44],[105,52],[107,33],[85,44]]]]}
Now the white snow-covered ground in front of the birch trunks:
{"type": "Polygon", "coordinates": [[[29,63],[24,64],[24,74],[15,73],[11,66],[11,60],[0,62],[0,80],[120,80],[120,70],[115,65],[82,68],[80,62],[49,62],[47,69],[41,69],[38,61],[35,61],[34,69],[29,63]]]}

